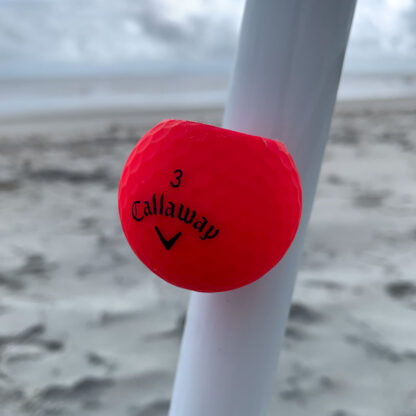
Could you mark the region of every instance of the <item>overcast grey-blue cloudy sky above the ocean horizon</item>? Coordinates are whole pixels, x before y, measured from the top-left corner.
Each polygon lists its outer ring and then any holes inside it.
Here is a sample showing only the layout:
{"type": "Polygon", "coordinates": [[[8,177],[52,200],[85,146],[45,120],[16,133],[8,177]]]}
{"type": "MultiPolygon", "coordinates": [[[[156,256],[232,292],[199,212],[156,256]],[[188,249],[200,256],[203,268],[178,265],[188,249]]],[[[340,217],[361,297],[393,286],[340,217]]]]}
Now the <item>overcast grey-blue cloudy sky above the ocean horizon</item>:
{"type": "MultiPolygon", "coordinates": [[[[224,64],[242,0],[0,0],[0,66],[224,64]]],[[[416,0],[359,0],[350,70],[416,72],[416,0]]]]}

